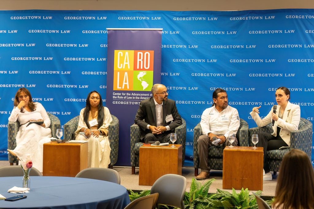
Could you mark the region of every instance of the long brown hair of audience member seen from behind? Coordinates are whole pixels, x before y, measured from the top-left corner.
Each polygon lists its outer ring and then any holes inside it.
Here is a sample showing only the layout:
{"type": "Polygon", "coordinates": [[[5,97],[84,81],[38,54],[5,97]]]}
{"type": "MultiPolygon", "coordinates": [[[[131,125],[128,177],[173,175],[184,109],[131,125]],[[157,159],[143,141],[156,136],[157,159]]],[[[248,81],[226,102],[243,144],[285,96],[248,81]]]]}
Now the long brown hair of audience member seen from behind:
{"type": "Polygon", "coordinates": [[[291,150],[280,165],[273,205],[283,209],[313,209],[313,188],[314,170],[309,156],[301,150],[291,150]]]}

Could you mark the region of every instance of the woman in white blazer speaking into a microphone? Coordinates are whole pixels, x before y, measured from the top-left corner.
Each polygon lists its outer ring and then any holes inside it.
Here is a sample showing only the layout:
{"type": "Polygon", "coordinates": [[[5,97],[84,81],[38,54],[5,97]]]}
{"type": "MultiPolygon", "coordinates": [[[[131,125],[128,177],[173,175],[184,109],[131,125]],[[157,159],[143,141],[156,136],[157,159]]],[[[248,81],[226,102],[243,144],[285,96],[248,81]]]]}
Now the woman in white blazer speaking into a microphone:
{"type": "Polygon", "coordinates": [[[290,147],[290,132],[297,131],[300,123],[300,106],[291,104],[290,90],[286,87],[279,87],[275,93],[277,101],[276,113],[273,107],[266,117],[260,118],[259,107],[253,107],[250,115],[258,127],[266,126],[274,120],[273,133],[261,132],[258,134],[257,147],[264,147],[264,176],[263,180],[272,180],[272,175],[267,161],[267,151],[279,149],[280,147],[290,147]]]}

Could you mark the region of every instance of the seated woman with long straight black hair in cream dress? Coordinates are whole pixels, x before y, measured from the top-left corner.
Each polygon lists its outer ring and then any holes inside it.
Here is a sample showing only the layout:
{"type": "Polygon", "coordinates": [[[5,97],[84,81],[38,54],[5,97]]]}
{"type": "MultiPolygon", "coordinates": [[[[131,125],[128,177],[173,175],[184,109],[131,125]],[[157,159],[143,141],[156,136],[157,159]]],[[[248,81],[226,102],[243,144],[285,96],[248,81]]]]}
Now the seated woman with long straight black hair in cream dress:
{"type": "Polygon", "coordinates": [[[110,143],[108,126],[112,121],[109,109],[102,106],[97,91],[92,91],[86,99],[86,107],[80,111],[76,140],[88,141],[88,167],[107,168],[110,163],[110,143]]]}

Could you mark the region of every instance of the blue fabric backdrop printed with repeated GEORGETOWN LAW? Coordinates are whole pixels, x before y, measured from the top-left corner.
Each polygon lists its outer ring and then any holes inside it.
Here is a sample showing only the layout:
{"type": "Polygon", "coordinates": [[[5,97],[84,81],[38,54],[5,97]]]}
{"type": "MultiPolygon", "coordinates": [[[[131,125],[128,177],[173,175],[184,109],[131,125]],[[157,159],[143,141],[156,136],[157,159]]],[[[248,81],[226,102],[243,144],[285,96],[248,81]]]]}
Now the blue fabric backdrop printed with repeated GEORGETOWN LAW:
{"type": "MultiPolygon", "coordinates": [[[[249,127],[256,126],[252,107],[262,105],[260,115],[267,115],[279,86],[290,88],[301,117],[314,119],[313,9],[23,10],[0,11],[0,21],[1,159],[7,159],[7,123],[18,88],[28,88],[61,124],[79,114],[91,90],[106,98],[106,28],[163,28],[161,83],[187,121],[188,166],[193,128],[212,104],[215,88],[227,91],[229,105],[249,127]]],[[[119,143],[129,146],[129,138],[119,143]]],[[[129,158],[119,152],[117,165],[129,165],[129,158]]]]}

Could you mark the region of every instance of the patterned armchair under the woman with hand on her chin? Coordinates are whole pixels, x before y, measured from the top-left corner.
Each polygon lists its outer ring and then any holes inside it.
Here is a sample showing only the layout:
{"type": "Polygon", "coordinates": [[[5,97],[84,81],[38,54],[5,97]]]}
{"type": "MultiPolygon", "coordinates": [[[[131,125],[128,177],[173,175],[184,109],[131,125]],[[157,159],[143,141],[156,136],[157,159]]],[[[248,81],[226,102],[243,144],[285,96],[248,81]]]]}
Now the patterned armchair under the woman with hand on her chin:
{"type": "MultiPolygon", "coordinates": [[[[51,121],[50,129],[51,129],[52,137],[56,138],[57,129],[61,128],[60,120],[55,115],[52,115],[50,113],[47,113],[47,114],[51,121]]],[[[19,131],[19,127],[20,127],[19,121],[8,122],[8,149],[14,149],[16,147],[15,137],[19,131]]],[[[13,163],[16,163],[16,165],[19,164],[19,161],[16,159],[16,157],[11,155],[10,153],[8,153],[8,159],[9,159],[10,165],[13,165],[13,163]]]]}

